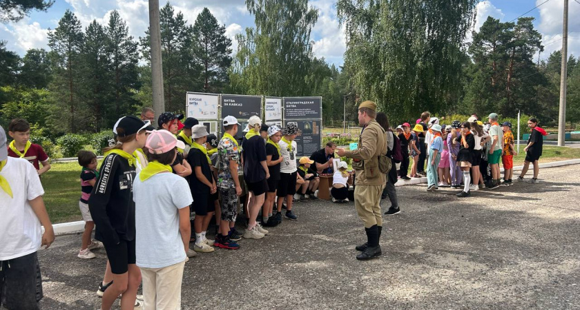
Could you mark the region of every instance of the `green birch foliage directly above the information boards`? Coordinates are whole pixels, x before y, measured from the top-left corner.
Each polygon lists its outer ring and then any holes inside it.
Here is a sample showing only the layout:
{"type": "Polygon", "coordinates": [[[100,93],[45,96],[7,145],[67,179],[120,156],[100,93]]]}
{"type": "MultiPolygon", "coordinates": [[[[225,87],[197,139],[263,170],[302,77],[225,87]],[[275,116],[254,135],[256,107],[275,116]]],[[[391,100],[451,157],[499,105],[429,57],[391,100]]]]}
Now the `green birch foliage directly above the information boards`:
{"type": "Polygon", "coordinates": [[[246,0],[255,28],[238,34],[229,75],[240,94],[304,96],[312,58],[311,30],[318,11],[308,0],[246,0]]]}

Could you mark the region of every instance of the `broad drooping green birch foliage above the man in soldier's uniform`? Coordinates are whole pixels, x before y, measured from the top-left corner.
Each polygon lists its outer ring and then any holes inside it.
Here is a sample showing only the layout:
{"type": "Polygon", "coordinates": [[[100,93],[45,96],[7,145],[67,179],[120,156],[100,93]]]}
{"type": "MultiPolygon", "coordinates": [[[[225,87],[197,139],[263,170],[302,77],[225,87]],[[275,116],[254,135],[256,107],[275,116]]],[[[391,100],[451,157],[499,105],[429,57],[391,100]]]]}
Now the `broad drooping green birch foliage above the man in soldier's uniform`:
{"type": "Polygon", "coordinates": [[[389,118],[443,111],[461,95],[462,50],[476,0],[339,0],[345,70],[389,118]]]}

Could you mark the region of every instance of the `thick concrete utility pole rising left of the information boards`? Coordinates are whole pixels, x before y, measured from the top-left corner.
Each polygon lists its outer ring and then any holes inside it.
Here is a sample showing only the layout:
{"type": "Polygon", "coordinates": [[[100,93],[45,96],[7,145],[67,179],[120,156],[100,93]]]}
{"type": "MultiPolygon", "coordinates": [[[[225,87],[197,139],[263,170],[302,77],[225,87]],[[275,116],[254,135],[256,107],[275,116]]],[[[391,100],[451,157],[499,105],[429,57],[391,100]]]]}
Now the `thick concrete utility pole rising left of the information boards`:
{"type": "Polygon", "coordinates": [[[163,65],[161,58],[161,30],[159,0],[149,0],[149,34],[151,37],[151,80],[153,81],[153,110],[157,116],[165,112],[163,65]]]}

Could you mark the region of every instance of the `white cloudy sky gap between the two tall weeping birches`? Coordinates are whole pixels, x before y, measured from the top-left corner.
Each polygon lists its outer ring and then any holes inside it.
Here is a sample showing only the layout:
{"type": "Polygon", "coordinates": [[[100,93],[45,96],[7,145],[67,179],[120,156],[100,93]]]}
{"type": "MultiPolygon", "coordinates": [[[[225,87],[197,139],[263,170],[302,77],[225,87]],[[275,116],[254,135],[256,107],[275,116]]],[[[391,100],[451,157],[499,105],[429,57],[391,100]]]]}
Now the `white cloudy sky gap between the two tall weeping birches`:
{"type": "Polygon", "coordinates": [[[347,49],[345,27],[340,27],[336,8],[332,0],[311,1],[311,5],[318,9],[318,22],[314,25],[313,53],[317,57],[325,57],[331,63],[342,64],[342,57],[347,49]]]}

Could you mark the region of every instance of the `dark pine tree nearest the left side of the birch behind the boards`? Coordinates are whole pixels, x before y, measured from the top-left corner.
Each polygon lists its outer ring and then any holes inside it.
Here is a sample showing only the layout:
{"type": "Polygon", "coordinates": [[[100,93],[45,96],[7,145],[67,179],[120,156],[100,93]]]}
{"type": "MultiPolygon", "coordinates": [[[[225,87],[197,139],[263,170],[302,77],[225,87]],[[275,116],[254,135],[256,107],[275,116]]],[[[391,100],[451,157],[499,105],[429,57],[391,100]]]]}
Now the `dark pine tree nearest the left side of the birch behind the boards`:
{"type": "Polygon", "coordinates": [[[193,24],[193,56],[203,67],[204,92],[222,92],[229,83],[231,40],[225,33],[225,26],[218,24],[208,8],[197,15],[193,24]]]}

